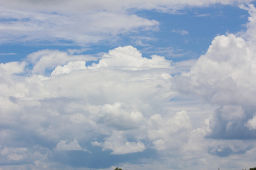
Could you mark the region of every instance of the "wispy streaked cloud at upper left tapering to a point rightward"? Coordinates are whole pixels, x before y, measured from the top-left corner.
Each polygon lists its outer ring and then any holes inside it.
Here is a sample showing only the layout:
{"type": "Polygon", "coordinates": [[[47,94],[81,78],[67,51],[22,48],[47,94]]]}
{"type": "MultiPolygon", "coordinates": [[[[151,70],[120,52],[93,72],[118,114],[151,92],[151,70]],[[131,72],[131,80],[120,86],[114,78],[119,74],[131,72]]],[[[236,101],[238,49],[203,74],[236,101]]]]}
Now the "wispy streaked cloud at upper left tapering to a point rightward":
{"type": "Polygon", "coordinates": [[[0,43],[31,42],[43,43],[49,41],[72,41],[85,46],[101,40],[110,40],[118,34],[129,33],[137,29],[156,30],[158,22],[127,13],[109,11],[93,12],[50,12],[47,9],[14,10],[1,7],[0,43]]]}

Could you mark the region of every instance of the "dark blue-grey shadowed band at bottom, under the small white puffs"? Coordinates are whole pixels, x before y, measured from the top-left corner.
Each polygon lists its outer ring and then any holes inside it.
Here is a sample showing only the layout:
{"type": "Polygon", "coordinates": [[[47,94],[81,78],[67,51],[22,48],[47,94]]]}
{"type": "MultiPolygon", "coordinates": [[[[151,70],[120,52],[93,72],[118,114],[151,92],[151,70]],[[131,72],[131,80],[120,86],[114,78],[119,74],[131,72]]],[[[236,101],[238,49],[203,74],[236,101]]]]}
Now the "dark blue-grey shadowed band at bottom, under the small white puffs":
{"type": "Polygon", "coordinates": [[[109,168],[125,162],[141,164],[144,159],[155,160],[158,158],[158,152],[150,148],[143,152],[125,155],[110,155],[111,151],[102,151],[101,147],[93,147],[92,149],[92,152],[55,150],[48,158],[71,167],[87,168],[109,168]]]}

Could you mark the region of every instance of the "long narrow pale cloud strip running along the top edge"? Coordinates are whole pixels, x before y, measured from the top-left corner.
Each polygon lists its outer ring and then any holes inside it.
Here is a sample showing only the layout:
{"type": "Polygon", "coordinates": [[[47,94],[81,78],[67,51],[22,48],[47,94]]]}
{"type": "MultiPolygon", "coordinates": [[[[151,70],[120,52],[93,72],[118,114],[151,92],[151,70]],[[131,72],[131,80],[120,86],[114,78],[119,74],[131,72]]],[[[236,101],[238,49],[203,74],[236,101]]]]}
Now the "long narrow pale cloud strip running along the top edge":
{"type": "Polygon", "coordinates": [[[246,0],[236,0],[236,1],[214,1],[214,0],[206,0],[206,1],[168,1],[168,0],[160,0],[160,1],[152,1],[148,2],[146,0],[140,0],[140,1],[117,1],[117,0],[112,0],[109,2],[103,1],[103,0],[98,0],[98,1],[81,1],[81,0],[76,0],[73,1],[72,3],[69,1],[52,1],[51,3],[49,2],[34,2],[34,1],[26,1],[24,3],[19,2],[18,0],[11,0],[7,1],[4,0],[1,2],[2,5],[8,6],[8,7],[16,7],[16,8],[25,8],[25,9],[30,9],[27,7],[27,5],[31,5],[34,7],[34,9],[38,10],[43,8],[46,8],[47,10],[55,10],[55,11],[94,11],[94,10],[107,10],[107,11],[121,11],[121,10],[127,10],[130,8],[138,8],[138,9],[146,9],[146,10],[152,10],[156,9],[159,11],[165,11],[167,12],[168,10],[179,10],[181,8],[187,7],[187,6],[209,6],[214,3],[221,3],[223,5],[228,5],[228,4],[236,4],[236,3],[249,3],[251,1],[246,1],[246,0]],[[12,2],[12,3],[11,3],[12,2]]]}

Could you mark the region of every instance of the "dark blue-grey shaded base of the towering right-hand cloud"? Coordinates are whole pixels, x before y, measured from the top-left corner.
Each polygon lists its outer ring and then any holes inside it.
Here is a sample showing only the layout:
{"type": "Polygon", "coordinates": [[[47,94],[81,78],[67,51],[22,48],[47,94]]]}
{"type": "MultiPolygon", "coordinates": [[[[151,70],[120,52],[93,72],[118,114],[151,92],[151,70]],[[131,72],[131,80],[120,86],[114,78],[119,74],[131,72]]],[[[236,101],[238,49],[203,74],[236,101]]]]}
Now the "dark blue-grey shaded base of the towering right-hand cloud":
{"type": "Polygon", "coordinates": [[[255,130],[249,123],[255,108],[226,106],[216,109],[209,118],[209,138],[218,139],[255,139],[255,130]]]}

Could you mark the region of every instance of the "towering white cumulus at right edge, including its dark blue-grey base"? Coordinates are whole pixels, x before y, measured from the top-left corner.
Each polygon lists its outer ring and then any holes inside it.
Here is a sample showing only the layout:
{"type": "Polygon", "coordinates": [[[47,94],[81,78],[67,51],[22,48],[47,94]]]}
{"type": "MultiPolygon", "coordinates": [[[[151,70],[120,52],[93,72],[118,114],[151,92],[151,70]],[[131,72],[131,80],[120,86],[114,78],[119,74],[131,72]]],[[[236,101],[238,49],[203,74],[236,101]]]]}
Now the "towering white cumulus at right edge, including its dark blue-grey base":
{"type": "MultiPolygon", "coordinates": [[[[255,11],[253,6],[248,8],[255,11]]],[[[250,15],[249,32],[255,25],[254,12],[250,15]]],[[[209,138],[256,138],[256,81],[252,79],[256,76],[255,41],[249,32],[240,32],[240,37],[233,34],[215,37],[191,71],[174,78],[181,92],[219,106],[209,118],[209,138]]]]}

